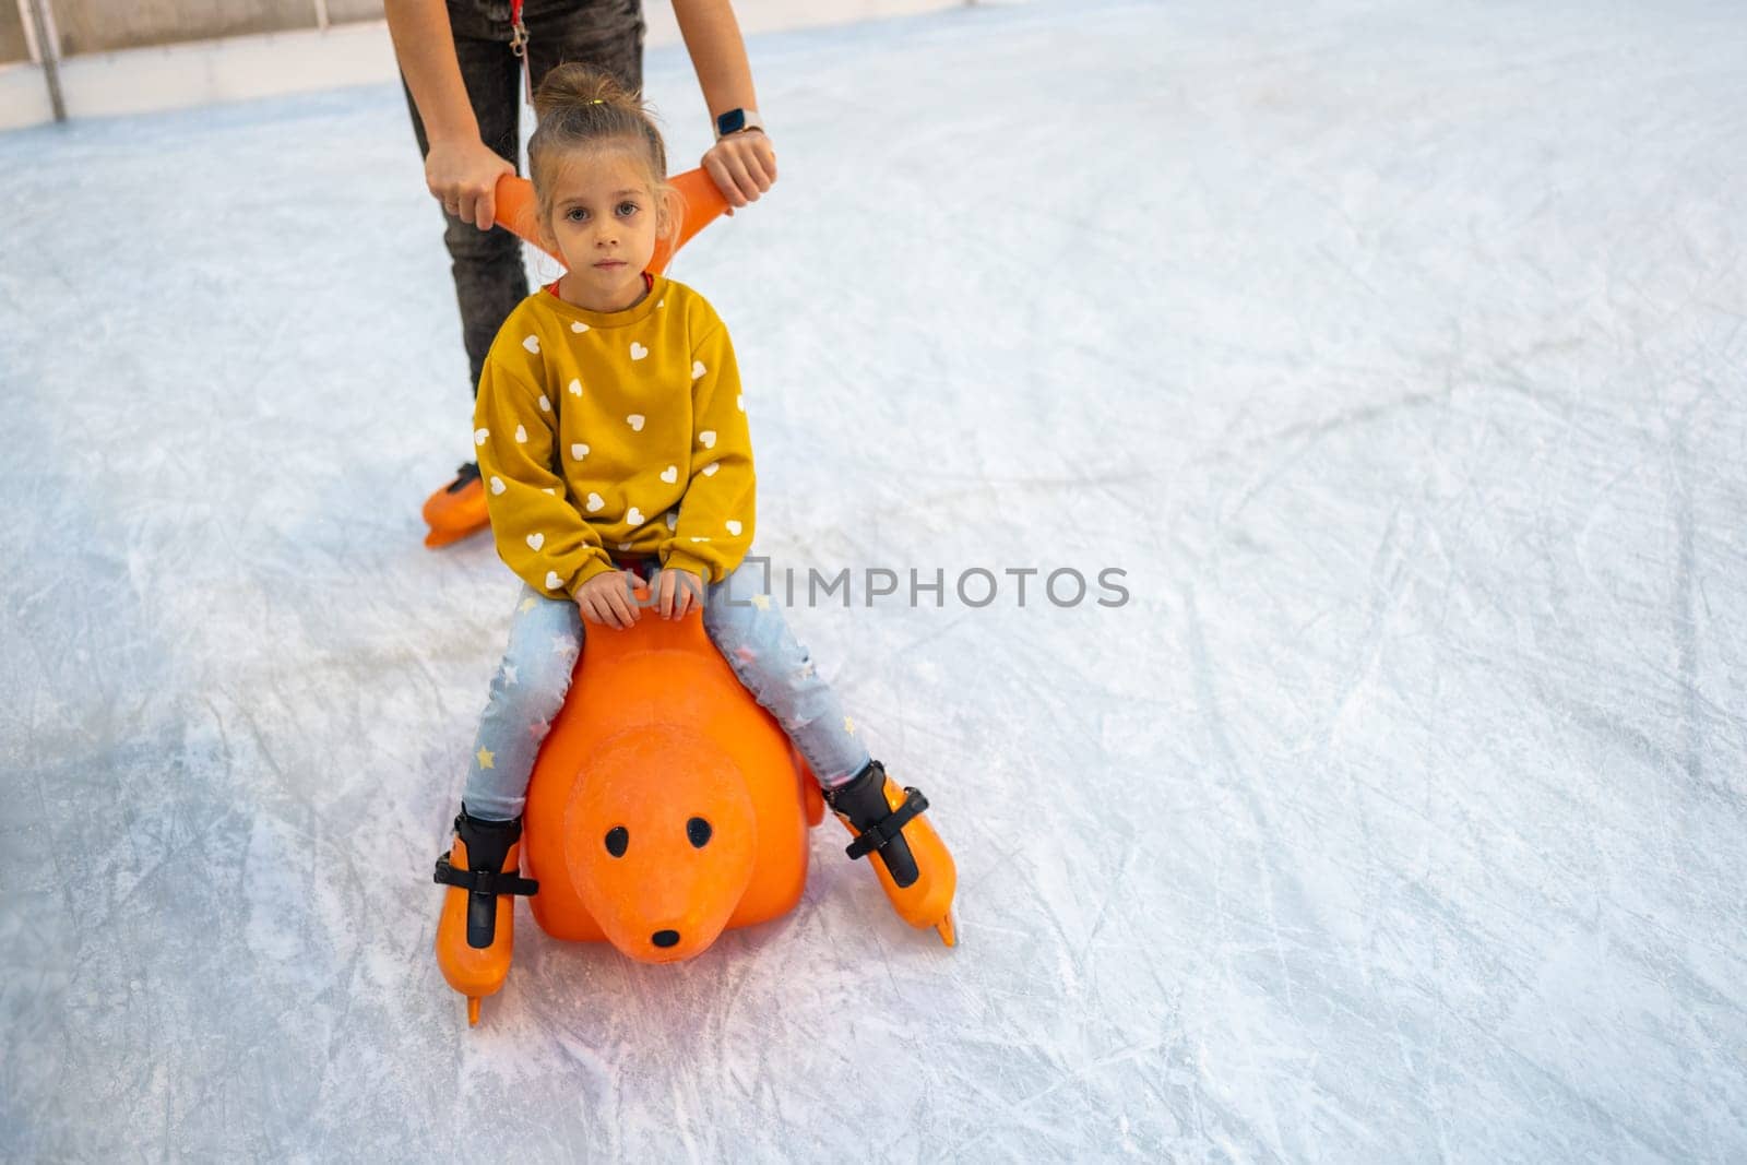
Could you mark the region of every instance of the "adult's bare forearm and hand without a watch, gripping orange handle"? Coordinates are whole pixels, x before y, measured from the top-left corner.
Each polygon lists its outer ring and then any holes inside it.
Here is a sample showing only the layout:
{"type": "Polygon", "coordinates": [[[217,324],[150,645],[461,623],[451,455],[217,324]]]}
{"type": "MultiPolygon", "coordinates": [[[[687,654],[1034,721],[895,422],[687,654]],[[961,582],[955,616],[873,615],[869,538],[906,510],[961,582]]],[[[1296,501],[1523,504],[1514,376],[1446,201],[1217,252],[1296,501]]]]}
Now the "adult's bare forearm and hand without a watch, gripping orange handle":
{"type": "Polygon", "coordinates": [[[479,138],[479,119],[454,56],[449,9],[444,0],[384,0],[383,12],[400,75],[407,79],[430,143],[425,185],[445,211],[491,231],[493,190],[501,175],[515,173],[515,166],[479,138]]]}

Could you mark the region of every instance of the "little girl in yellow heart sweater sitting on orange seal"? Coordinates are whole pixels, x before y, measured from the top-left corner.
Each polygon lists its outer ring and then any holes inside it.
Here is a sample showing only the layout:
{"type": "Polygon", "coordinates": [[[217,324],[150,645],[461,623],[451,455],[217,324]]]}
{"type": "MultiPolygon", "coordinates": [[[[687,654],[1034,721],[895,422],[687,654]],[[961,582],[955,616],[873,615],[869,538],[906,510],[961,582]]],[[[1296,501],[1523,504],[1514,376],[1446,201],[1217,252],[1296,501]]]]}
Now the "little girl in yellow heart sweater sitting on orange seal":
{"type": "Polygon", "coordinates": [[[526,587],[491,683],[454,821],[437,861],[444,908],[437,961],[479,996],[508,973],[510,894],[522,805],[540,742],[564,702],[583,624],[615,634],[639,617],[702,608],[734,674],[812,767],[825,800],[872,854],[893,905],[935,926],[950,905],[952,858],[856,737],[795,643],[753,541],[755,475],[746,400],[728,332],[702,295],[645,272],[678,229],[660,134],[638,96],[564,65],[535,96],[528,143],[542,241],[568,267],[505,320],[486,358],[473,444],[498,554],[526,587]],[[646,575],[653,606],[632,582],[646,575]],[[727,599],[732,597],[734,603],[727,599]]]}

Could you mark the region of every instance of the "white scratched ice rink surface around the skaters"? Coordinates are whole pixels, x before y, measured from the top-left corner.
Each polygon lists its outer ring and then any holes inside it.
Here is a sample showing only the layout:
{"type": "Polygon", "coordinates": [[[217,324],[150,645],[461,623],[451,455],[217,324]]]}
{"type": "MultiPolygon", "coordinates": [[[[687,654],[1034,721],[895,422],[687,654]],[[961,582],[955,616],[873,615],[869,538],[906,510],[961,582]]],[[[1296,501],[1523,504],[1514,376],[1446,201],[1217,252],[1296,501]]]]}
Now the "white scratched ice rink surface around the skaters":
{"type": "Polygon", "coordinates": [[[751,56],[781,182],[673,274],[760,548],[943,571],[790,622],[959,948],[826,823],[688,964],[519,906],[466,1031],[430,866],[515,582],[419,545],[470,407],[400,93],[10,133],[0,1158],[1742,1160],[1747,10],[751,56]]]}

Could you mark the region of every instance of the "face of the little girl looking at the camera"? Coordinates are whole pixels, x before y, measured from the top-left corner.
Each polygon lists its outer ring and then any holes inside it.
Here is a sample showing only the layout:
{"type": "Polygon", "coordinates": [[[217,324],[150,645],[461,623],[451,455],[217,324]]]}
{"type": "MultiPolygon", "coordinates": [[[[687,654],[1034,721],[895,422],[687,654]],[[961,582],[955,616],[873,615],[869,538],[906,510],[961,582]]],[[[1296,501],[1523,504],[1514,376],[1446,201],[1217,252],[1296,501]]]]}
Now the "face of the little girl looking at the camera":
{"type": "Polygon", "coordinates": [[[545,224],[570,269],[559,285],[564,299],[589,311],[624,311],[638,302],[659,218],[646,168],[625,150],[601,150],[564,166],[554,178],[545,224]]]}

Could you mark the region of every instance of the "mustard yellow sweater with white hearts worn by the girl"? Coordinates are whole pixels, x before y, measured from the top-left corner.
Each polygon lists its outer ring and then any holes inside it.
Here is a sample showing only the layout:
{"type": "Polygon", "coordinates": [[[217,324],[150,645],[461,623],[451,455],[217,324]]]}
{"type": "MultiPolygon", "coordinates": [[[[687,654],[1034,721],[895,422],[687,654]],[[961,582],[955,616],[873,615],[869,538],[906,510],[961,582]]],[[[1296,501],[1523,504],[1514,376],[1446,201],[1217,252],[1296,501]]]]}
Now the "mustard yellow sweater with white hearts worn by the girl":
{"type": "Polygon", "coordinates": [[[636,307],[538,290],[491,344],[473,444],[498,555],[575,594],[613,554],[722,582],[753,541],[756,480],[734,346],[702,295],[657,276],[636,307]]]}

